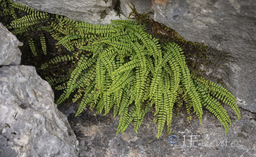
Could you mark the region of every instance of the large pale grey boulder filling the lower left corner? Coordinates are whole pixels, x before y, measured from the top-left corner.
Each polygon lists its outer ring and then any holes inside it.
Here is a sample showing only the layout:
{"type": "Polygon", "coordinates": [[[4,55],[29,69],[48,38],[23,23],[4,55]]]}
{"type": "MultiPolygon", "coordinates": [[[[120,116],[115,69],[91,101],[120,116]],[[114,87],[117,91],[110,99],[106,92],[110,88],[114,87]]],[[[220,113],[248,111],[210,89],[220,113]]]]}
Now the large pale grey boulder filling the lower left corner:
{"type": "Polygon", "coordinates": [[[76,136],[35,67],[1,67],[0,87],[1,157],[77,156],[76,136]]]}

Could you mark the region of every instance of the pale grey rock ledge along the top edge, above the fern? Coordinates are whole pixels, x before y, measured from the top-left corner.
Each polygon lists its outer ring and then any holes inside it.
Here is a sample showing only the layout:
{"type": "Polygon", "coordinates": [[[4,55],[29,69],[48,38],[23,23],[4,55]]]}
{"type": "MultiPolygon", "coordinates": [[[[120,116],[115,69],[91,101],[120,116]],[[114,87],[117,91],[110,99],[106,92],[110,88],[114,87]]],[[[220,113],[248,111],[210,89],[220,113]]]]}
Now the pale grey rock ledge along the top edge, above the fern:
{"type": "MultiPolygon", "coordinates": [[[[116,16],[114,5],[117,0],[12,0],[32,7],[38,11],[64,15],[72,20],[87,21],[92,24],[109,24],[110,20],[120,19],[116,16]],[[114,2],[113,2],[114,1],[114,2]]],[[[120,16],[122,19],[125,17],[120,16]]]]}

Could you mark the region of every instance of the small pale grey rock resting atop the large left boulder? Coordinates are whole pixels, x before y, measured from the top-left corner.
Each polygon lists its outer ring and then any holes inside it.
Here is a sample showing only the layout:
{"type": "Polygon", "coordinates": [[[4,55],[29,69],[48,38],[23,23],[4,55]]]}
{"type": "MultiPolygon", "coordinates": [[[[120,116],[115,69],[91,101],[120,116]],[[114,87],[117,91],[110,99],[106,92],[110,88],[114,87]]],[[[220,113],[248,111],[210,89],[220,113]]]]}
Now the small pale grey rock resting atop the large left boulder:
{"type": "Polygon", "coordinates": [[[0,66],[20,65],[21,52],[18,46],[22,45],[0,22],[0,66]]]}

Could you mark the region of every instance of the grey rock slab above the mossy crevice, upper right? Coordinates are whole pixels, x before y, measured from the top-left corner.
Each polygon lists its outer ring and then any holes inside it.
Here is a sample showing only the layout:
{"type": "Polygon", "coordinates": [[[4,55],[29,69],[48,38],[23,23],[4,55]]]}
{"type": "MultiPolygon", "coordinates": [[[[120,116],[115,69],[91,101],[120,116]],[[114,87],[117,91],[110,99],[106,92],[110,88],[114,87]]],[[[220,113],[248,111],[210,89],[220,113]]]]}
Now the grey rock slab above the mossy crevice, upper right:
{"type": "Polygon", "coordinates": [[[154,20],[173,28],[188,41],[204,42],[234,57],[223,77],[237,104],[256,112],[256,3],[254,0],[153,0],[154,20]]]}

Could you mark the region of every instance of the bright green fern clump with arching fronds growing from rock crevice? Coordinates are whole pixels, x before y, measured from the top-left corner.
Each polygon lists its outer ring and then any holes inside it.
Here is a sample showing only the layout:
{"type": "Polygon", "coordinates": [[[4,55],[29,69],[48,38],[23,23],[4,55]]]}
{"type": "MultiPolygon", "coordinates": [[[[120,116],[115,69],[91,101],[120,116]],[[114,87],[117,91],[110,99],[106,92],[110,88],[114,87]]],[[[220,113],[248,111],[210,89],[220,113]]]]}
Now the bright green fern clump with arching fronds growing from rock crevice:
{"type": "MultiPolygon", "coordinates": [[[[24,9],[24,6],[19,5],[19,8],[24,9]]],[[[26,9],[28,15],[9,25],[15,28],[15,34],[24,35],[30,26],[36,25],[38,27],[32,28],[50,33],[57,40],[58,48],[65,47],[73,52],[70,56],[55,57],[42,69],[67,60],[75,64],[69,77],[48,77],[47,80],[51,85],[62,83],[55,87],[63,90],[57,105],[73,93],[73,102],[80,100],[76,116],[86,106],[104,115],[113,111],[114,116],[120,115],[116,133],[123,133],[132,121],[137,132],[145,114],[152,111],[158,122],[157,138],[165,124],[167,133],[171,133],[172,110],[180,98],[188,114],[193,109],[199,122],[205,106],[222,123],[225,133],[231,121],[220,103],[228,104],[238,119],[241,118],[236,98],[228,90],[190,72],[181,47],[176,43],[160,44],[158,39],[146,33],[144,25],[130,20],[112,20],[107,26],[92,25],[60,15],[47,19],[47,13],[26,9]],[[39,27],[37,23],[42,18],[44,25],[39,27]]],[[[43,36],[40,41],[46,53],[43,36]]],[[[36,54],[33,40],[29,42],[36,54]]]]}

